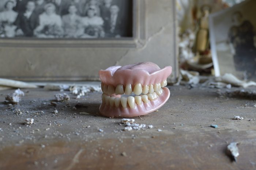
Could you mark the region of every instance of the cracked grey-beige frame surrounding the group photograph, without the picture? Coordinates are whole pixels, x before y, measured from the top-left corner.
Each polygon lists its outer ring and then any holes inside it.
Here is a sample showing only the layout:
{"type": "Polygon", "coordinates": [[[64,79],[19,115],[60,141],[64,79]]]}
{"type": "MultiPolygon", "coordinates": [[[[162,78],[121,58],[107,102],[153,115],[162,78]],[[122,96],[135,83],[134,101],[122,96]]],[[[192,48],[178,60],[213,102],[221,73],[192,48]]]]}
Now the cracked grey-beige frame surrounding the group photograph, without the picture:
{"type": "Polygon", "coordinates": [[[23,81],[96,81],[113,65],[151,61],[178,77],[175,0],[133,0],[133,36],[97,39],[0,38],[0,77],[23,81]]]}

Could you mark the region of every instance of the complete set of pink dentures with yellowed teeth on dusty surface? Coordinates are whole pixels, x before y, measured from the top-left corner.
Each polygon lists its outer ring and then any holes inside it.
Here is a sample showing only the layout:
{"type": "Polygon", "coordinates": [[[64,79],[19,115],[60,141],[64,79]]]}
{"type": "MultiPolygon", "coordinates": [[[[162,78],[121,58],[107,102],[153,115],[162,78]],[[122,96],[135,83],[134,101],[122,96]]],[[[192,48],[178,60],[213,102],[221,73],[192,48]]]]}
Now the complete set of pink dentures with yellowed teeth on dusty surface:
{"type": "Polygon", "coordinates": [[[107,117],[134,117],[157,110],[170,96],[165,86],[171,73],[171,66],[160,69],[152,62],[100,70],[100,113],[107,117]]]}

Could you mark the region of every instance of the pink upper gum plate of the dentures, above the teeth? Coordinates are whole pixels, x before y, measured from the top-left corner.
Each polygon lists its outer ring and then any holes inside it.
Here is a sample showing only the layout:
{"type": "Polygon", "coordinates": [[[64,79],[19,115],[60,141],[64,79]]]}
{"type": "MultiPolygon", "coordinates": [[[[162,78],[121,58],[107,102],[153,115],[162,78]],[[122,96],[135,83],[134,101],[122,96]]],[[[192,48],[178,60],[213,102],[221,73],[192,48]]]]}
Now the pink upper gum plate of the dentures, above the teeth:
{"type": "Polygon", "coordinates": [[[146,85],[155,85],[166,80],[172,73],[172,67],[166,66],[160,69],[158,65],[152,62],[141,62],[127,66],[112,66],[106,70],[99,71],[99,78],[105,85],[112,85],[114,88],[118,85],[131,84],[132,88],[138,83],[142,87],[146,85]]]}

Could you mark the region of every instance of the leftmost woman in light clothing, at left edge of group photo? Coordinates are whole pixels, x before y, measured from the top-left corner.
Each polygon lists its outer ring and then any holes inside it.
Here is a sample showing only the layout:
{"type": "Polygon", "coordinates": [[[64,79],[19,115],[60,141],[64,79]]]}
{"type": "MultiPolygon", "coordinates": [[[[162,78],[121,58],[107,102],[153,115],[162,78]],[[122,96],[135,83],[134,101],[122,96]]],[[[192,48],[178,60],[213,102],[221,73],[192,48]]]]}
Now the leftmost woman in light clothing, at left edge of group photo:
{"type": "Polygon", "coordinates": [[[0,12],[0,36],[1,37],[14,37],[16,26],[14,22],[18,13],[13,10],[15,6],[14,1],[8,0],[3,12],[0,12]]]}

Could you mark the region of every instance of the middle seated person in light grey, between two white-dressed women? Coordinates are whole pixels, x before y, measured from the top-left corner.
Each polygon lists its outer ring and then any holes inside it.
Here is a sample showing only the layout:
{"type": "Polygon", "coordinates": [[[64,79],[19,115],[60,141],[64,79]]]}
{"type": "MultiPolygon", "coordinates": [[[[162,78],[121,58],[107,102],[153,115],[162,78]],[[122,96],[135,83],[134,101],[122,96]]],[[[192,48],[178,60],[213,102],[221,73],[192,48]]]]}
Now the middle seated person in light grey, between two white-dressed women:
{"type": "Polygon", "coordinates": [[[68,12],[67,15],[62,17],[64,37],[77,38],[79,35],[83,34],[81,17],[76,14],[77,8],[74,4],[69,6],[68,12]]]}

